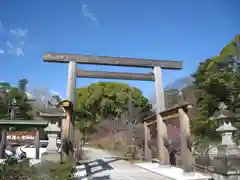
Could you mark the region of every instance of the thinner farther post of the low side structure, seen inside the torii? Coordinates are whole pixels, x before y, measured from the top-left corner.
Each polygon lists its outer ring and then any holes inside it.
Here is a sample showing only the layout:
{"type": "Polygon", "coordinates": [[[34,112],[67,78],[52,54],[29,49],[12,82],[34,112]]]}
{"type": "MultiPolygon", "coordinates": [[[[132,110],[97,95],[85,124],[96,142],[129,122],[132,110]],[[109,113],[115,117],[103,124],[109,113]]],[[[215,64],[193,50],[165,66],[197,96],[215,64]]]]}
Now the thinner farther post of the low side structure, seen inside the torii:
{"type": "Polygon", "coordinates": [[[147,123],[144,122],[144,159],[146,161],[152,160],[152,152],[148,145],[149,140],[151,140],[150,130],[147,123]]]}

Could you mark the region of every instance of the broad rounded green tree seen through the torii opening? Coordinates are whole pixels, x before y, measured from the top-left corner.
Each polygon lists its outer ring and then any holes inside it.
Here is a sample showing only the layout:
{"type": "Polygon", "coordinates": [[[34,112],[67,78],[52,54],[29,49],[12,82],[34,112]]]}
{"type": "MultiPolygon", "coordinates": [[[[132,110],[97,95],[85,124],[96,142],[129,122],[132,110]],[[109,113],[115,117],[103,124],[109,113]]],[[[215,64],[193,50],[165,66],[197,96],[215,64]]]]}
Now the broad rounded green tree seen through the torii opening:
{"type": "MultiPolygon", "coordinates": [[[[99,82],[77,89],[77,117],[82,122],[90,120],[95,124],[105,118],[120,116],[128,110],[129,94],[133,106],[141,108],[142,113],[150,110],[148,99],[139,89],[124,83],[99,82]]],[[[91,123],[88,127],[92,127],[91,123]]]]}

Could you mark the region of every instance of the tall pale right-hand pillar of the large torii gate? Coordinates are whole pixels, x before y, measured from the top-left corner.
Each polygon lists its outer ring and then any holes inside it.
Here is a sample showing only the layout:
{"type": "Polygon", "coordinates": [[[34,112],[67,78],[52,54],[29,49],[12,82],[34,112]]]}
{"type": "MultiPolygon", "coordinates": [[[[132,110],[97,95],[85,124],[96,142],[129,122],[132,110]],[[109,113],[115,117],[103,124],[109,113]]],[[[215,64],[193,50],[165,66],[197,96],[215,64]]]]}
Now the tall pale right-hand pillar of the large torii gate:
{"type": "Polygon", "coordinates": [[[166,164],[168,157],[165,157],[166,150],[164,147],[163,138],[166,137],[164,134],[165,124],[163,123],[160,112],[165,109],[164,90],[162,85],[162,69],[160,67],[154,67],[154,78],[155,78],[155,93],[156,93],[156,117],[157,117],[157,149],[158,158],[160,163],[166,164]]]}

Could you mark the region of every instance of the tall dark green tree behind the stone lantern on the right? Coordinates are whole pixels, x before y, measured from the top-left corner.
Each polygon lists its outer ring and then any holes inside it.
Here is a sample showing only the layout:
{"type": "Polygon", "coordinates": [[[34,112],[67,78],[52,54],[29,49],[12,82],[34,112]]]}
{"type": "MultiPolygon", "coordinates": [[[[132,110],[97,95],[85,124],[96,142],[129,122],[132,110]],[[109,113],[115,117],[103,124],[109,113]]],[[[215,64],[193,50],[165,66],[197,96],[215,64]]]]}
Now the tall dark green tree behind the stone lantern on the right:
{"type": "Polygon", "coordinates": [[[218,137],[216,122],[210,117],[220,102],[224,102],[232,112],[240,107],[239,40],[240,36],[236,36],[218,56],[200,63],[193,76],[198,110],[196,119],[192,121],[192,130],[196,136],[218,137]]]}

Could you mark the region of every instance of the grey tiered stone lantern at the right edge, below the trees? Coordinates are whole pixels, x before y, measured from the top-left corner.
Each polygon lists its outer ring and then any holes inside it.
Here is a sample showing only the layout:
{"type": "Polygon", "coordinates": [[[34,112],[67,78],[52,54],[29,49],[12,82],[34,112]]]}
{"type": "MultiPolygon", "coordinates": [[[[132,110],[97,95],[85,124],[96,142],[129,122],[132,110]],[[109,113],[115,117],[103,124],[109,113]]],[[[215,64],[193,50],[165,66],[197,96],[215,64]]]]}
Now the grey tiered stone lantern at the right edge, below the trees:
{"type": "Polygon", "coordinates": [[[234,113],[227,110],[224,103],[220,103],[219,110],[211,118],[217,120],[219,127],[216,129],[221,135],[221,143],[217,147],[217,153],[211,160],[214,169],[214,178],[224,180],[238,180],[240,178],[240,149],[233,142],[233,132],[237,130],[232,125],[236,120],[234,113]]]}

